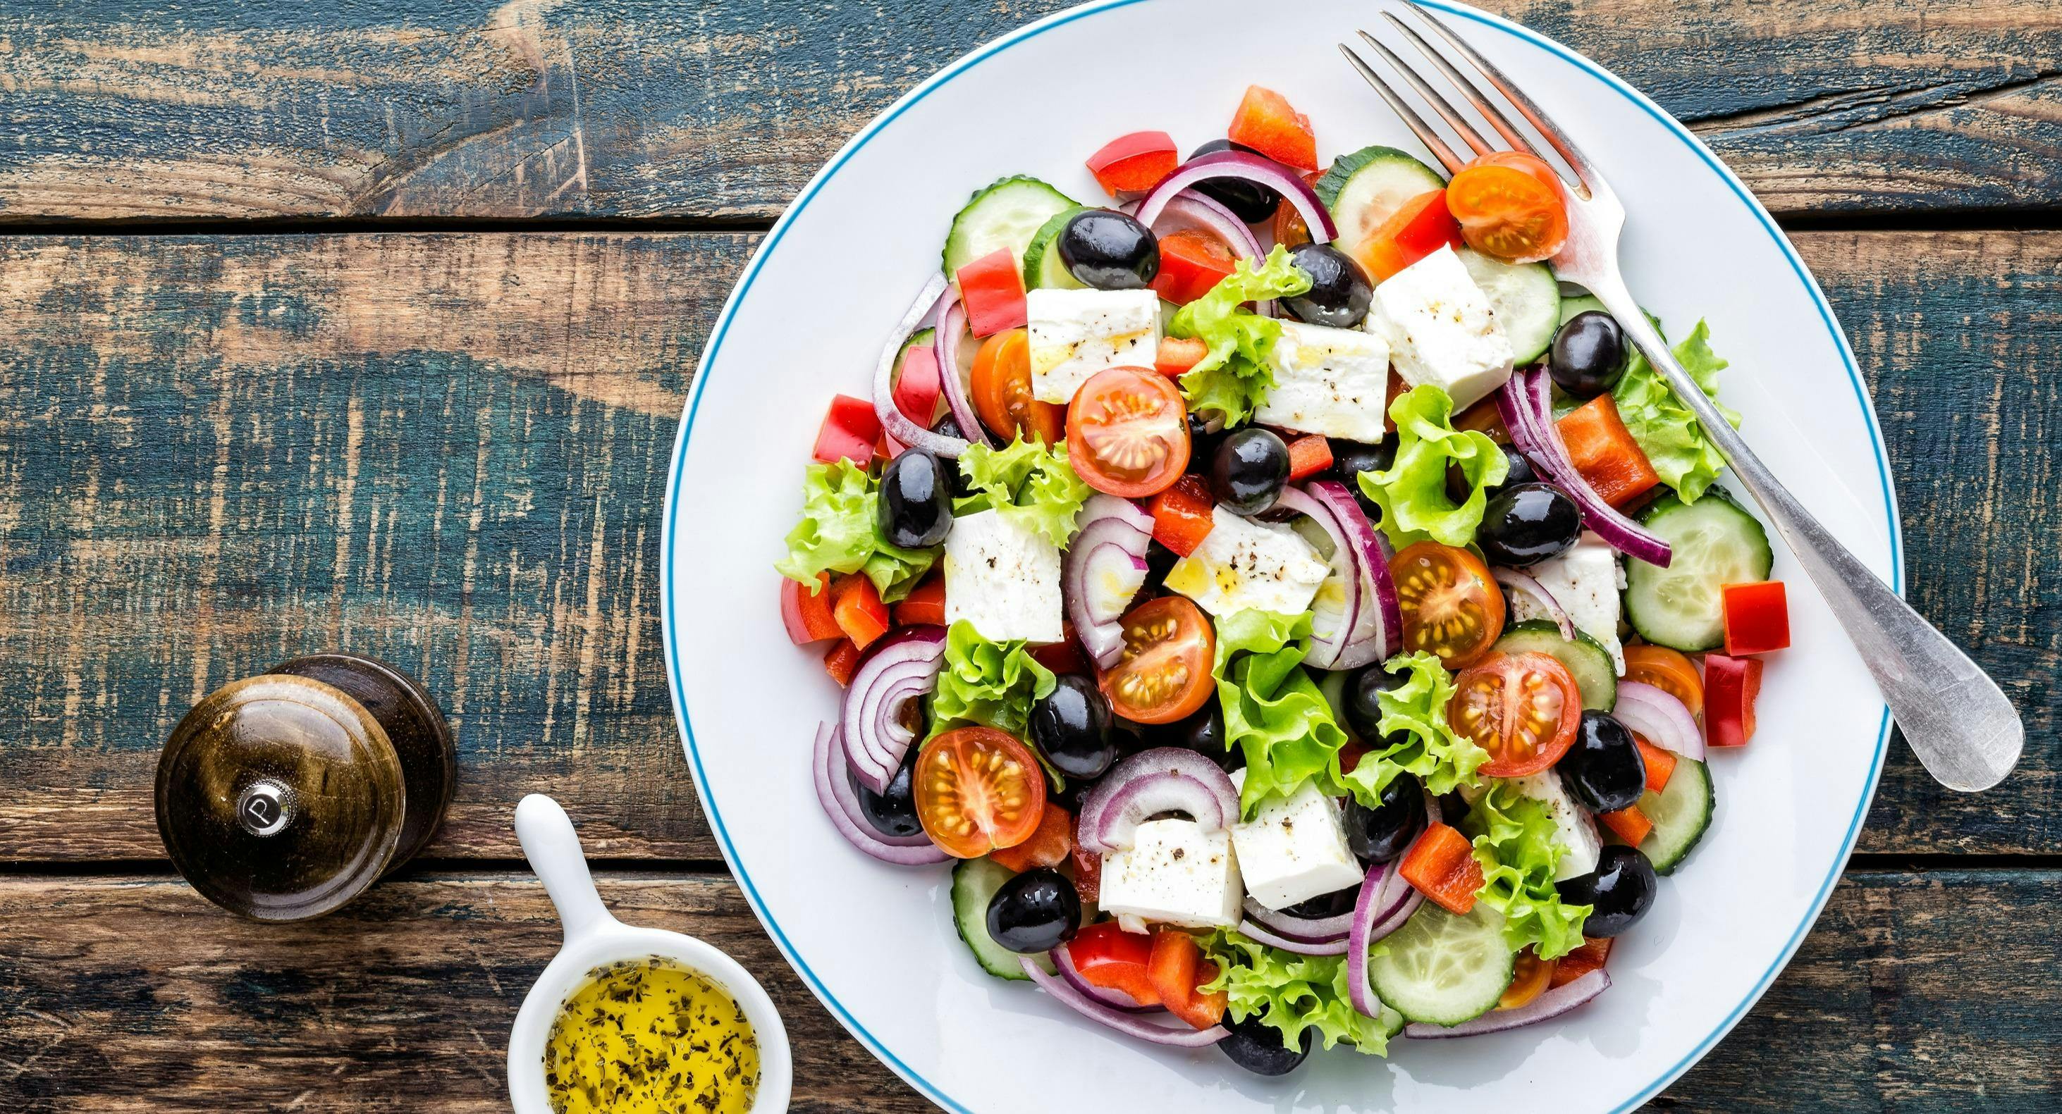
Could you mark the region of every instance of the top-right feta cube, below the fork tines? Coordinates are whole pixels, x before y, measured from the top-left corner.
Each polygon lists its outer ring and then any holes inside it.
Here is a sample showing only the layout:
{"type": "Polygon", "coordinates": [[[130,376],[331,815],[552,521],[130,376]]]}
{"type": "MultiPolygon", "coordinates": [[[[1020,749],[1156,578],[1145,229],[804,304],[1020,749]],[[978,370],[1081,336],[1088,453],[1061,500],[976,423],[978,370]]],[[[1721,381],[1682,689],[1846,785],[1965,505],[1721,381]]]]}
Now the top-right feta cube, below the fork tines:
{"type": "Polygon", "coordinates": [[[1511,342],[1497,327],[1489,294],[1468,278],[1452,247],[1375,286],[1367,329],[1388,338],[1390,360],[1406,385],[1443,389],[1454,395],[1456,412],[1511,377],[1511,342]]]}

